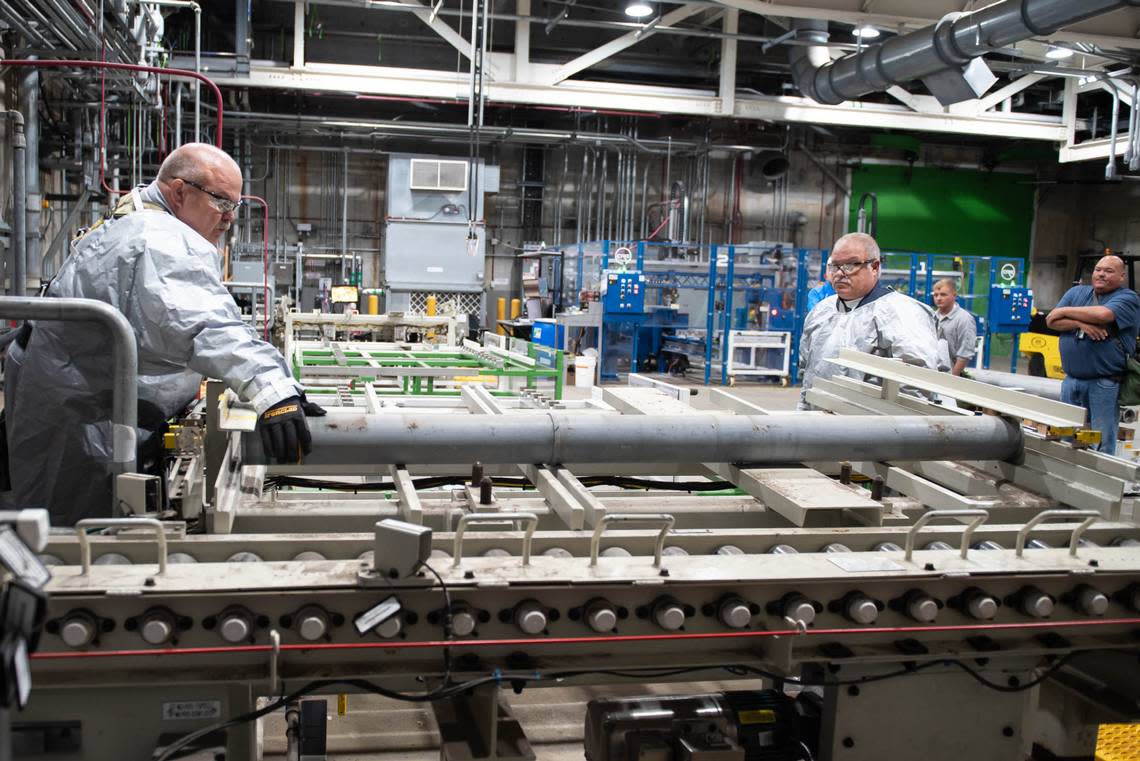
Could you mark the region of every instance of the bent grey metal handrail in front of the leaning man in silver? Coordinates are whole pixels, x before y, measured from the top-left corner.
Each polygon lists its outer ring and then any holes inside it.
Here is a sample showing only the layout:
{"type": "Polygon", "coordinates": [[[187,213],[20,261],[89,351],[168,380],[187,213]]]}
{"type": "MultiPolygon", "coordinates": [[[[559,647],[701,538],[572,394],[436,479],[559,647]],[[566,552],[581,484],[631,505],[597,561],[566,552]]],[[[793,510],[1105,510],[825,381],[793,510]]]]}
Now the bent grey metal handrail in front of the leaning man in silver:
{"type": "Polygon", "coordinates": [[[111,334],[112,409],[114,436],[112,473],[135,472],[136,428],[138,427],[138,349],[135,330],[122,312],[93,298],[0,297],[0,317],[27,320],[98,322],[111,334]]]}

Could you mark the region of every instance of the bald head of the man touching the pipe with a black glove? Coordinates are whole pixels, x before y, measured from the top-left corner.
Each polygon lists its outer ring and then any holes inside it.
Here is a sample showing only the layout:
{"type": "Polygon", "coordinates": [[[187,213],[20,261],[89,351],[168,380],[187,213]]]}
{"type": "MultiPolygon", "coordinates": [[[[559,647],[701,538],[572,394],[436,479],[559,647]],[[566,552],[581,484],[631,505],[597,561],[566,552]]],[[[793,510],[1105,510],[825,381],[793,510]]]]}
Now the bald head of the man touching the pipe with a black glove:
{"type": "Polygon", "coordinates": [[[158,167],[158,188],[171,212],[217,245],[242,199],[242,170],[225,150],[205,142],[176,148],[158,167]]]}

